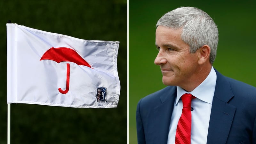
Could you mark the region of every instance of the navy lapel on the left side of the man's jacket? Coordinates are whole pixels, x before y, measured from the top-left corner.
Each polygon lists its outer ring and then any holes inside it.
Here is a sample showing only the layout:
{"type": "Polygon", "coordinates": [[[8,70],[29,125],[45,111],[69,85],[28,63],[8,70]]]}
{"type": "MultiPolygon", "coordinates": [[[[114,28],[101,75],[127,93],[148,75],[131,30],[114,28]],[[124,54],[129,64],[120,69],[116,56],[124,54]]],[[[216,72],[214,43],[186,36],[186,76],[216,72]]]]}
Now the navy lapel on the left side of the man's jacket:
{"type": "Polygon", "coordinates": [[[152,143],[154,144],[167,143],[169,126],[176,95],[176,87],[169,87],[162,95],[159,96],[161,104],[157,105],[153,109],[153,115],[151,115],[151,130],[152,133],[157,134],[156,137],[152,139],[152,143]]]}

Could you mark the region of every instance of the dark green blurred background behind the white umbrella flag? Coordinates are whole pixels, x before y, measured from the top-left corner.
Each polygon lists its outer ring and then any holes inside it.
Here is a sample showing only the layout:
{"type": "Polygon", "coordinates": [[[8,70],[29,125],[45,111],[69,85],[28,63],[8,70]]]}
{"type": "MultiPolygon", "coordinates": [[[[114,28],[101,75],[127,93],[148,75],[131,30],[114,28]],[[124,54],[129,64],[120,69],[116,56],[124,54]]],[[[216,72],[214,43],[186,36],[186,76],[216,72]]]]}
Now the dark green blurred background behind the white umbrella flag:
{"type": "Polygon", "coordinates": [[[1,0],[0,144],[7,143],[6,22],[87,40],[120,41],[117,108],[11,104],[12,144],[127,143],[127,1],[1,0]]]}

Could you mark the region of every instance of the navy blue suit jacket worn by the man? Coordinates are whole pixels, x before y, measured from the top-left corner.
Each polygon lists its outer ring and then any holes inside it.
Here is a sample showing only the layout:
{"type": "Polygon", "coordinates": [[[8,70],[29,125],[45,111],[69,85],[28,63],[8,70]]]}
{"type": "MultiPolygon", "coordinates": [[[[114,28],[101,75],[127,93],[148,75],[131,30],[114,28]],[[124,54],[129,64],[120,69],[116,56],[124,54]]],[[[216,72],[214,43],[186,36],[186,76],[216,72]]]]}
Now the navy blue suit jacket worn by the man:
{"type": "MultiPolygon", "coordinates": [[[[216,74],[207,144],[256,144],[256,88],[216,74]]],[[[138,144],[167,143],[176,95],[176,86],[167,86],[139,101],[138,144]]]]}

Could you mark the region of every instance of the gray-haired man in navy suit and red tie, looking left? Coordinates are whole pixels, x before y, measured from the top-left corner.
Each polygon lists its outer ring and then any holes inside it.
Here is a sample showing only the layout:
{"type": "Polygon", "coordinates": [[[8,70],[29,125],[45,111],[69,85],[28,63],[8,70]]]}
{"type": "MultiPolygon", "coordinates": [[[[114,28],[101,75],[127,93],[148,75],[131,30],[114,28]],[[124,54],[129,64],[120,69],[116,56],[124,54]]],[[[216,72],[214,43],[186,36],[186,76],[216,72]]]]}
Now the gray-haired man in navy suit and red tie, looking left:
{"type": "Polygon", "coordinates": [[[158,20],[155,64],[169,86],[139,101],[138,144],[256,144],[256,88],[212,67],[217,44],[217,26],[200,9],[158,20]]]}

